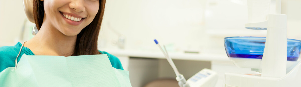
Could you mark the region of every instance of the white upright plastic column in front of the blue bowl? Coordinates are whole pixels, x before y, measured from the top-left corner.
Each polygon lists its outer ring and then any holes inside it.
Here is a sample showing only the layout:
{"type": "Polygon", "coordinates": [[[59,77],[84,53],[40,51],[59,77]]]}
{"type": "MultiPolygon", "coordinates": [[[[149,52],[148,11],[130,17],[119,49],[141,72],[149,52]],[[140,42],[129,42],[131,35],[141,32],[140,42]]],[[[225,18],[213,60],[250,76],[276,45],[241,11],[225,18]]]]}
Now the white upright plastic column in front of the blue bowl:
{"type": "Polygon", "coordinates": [[[286,74],[287,16],[269,14],[265,49],[262,56],[262,77],[282,77],[286,74]]]}

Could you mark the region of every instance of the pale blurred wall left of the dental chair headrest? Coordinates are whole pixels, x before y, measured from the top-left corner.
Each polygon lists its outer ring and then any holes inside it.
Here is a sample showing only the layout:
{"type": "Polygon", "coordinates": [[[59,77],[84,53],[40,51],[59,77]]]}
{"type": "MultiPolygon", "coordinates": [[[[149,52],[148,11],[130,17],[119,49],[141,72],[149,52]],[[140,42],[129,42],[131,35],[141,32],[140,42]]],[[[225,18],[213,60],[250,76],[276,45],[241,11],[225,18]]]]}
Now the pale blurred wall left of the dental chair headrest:
{"type": "Polygon", "coordinates": [[[0,1],[0,46],[14,46],[26,15],[22,0],[0,1]]]}

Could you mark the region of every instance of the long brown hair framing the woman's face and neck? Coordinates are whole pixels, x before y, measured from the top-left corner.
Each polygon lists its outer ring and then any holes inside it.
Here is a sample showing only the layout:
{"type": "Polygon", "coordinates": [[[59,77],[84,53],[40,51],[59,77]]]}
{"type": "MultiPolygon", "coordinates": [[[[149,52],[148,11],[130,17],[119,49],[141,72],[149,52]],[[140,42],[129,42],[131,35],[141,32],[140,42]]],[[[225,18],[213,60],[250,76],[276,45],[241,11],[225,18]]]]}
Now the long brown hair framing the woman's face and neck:
{"type": "MultiPolygon", "coordinates": [[[[77,35],[76,45],[72,56],[101,54],[101,52],[98,51],[97,40],[101,27],[101,22],[104,16],[105,3],[106,0],[99,1],[99,9],[95,18],[77,35]]],[[[43,1],[33,0],[33,17],[35,19],[37,29],[40,30],[44,18],[43,1]]]]}

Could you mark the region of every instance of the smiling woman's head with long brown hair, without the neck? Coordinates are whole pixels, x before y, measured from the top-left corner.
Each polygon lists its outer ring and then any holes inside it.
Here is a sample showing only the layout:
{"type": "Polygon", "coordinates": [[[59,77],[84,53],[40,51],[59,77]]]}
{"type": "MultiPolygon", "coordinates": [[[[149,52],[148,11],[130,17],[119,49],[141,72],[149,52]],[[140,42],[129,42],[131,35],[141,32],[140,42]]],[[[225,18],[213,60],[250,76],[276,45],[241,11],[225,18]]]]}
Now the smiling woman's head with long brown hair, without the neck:
{"type": "Polygon", "coordinates": [[[104,7],[105,0],[34,0],[33,16],[39,32],[52,27],[69,37],[77,35],[73,56],[96,55],[101,54],[97,50],[97,39],[104,7]]]}

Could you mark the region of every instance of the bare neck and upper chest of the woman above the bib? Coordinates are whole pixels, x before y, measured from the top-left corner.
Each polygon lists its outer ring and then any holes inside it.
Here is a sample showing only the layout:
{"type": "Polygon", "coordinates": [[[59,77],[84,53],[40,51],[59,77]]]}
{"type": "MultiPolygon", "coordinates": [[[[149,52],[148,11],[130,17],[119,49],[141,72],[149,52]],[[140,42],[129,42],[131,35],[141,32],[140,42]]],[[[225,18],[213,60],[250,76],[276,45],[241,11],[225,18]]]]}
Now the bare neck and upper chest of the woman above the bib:
{"type": "MultiPolygon", "coordinates": [[[[49,25],[49,24],[48,24],[49,25]]],[[[76,35],[67,36],[47,24],[42,25],[39,33],[24,44],[35,55],[71,56],[76,44],[76,35]]]]}

